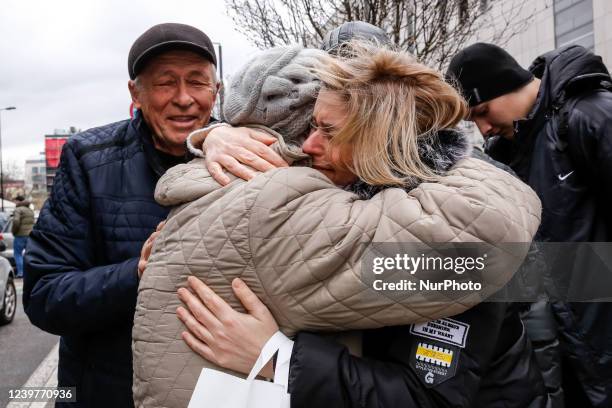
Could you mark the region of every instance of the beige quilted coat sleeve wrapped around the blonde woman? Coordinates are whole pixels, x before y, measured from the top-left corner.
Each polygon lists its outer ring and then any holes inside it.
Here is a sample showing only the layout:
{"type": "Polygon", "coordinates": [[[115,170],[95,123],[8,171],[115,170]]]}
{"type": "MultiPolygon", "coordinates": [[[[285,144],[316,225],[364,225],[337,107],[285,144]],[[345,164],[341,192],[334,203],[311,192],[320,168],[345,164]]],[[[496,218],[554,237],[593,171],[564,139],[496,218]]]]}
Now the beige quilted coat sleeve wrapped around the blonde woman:
{"type": "Polygon", "coordinates": [[[487,291],[501,288],[528,249],[526,244],[523,252],[509,253],[495,245],[530,242],[539,225],[535,193],[474,159],[438,183],[423,183],[409,193],[388,189],[369,200],[334,187],[312,169],[279,169],[251,183],[261,188],[249,222],[255,270],[266,304],[289,333],[375,328],[462,313],[487,291]],[[496,187],[504,184],[514,188],[496,187]],[[455,299],[431,292],[391,297],[375,290],[363,266],[371,243],[456,241],[491,248],[482,291],[455,299]]]}

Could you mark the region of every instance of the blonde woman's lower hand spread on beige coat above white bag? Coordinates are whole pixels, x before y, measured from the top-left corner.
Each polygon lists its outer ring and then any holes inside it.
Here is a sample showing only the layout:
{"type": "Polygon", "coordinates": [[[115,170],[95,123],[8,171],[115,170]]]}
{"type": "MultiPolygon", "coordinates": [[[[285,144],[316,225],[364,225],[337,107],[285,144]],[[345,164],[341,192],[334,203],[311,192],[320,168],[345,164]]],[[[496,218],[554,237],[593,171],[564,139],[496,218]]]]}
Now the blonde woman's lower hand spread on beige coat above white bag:
{"type": "MultiPolygon", "coordinates": [[[[192,276],[188,283],[193,293],[185,288],[178,290],[187,309],[179,307],[176,311],[189,329],[182,333],[183,340],[206,360],[248,374],[263,346],[278,331],[274,317],[238,278],[232,282],[232,289],[248,313],[232,309],[201,280],[192,276]]],[[[273,377],[271,363],[261,375],[273,377]]]]}

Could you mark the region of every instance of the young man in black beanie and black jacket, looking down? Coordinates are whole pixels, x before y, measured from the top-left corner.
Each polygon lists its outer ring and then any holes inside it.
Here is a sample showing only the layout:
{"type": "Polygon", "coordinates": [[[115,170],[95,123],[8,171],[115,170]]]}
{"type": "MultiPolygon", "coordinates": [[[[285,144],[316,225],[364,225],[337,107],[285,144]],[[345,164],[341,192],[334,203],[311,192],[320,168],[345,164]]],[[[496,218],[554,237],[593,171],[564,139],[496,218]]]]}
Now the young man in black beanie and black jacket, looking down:
{"type": "MultiPolygon", "coordinates": [[[[477,43],[453,57],[447,77],[468,100],[486,152],[542,200],[537,239],[612,241],[612,78],[599,56],[570,45],[525,70],[500,47],[477,43]]],[[[612,406],[612,305],[550,306],[566,406],[612,406]]]]}

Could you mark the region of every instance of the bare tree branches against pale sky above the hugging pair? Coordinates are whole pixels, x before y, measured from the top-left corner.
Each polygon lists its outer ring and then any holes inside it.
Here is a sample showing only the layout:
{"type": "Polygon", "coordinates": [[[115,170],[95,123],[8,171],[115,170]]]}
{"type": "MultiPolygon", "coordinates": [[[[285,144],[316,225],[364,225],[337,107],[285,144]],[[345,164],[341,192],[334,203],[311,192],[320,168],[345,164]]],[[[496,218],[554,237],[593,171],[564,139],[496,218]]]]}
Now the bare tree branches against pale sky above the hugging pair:
{"type": "MultiPolygon", "coordinates": [[[[551,2],[551,0],[547,0],[551,2]]],[[[345,21],[384,29],[399,48],[444,69],[480,38],[504,46],[528,28],[528,0],[225,0],[239,32],[259,48],[300,43],[318,47],[345,21]],[[524,17],[527,16],[527,17],[524,17]],[[486,33],[486,35],[483,35],[486,33]]]]}

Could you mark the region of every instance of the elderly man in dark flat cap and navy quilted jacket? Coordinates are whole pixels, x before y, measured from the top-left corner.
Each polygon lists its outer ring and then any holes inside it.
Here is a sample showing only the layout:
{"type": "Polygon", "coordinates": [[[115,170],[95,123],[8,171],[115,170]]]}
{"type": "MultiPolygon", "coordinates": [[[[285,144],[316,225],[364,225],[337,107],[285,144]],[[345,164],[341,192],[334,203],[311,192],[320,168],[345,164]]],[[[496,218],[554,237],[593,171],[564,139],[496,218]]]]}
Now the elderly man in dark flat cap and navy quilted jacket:
{"type": "Polygon", "coordinates": [[[76,387],[71,407],[133,405],[138,281],[168,213],[153,192],[188,159],[184,141],[209,123],[219,88],[210,39],[182,24],[142,34],[128,70],[138,112],[66,143],[25,258],[25,311],[61,336],[58,380],[76,387]]]}

